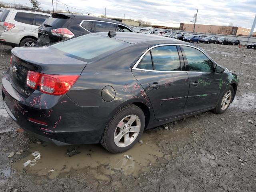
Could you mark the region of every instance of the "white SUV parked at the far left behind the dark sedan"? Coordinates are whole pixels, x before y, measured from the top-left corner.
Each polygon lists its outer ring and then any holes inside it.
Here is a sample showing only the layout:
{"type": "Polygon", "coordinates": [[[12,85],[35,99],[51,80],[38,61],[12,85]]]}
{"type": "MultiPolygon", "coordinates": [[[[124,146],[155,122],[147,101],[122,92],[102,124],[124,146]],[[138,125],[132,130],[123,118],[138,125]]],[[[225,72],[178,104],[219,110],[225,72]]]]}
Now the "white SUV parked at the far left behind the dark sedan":
{"type": "Polygon", "coordinates": [[[7,8],[0,14],[0,43],[36,46],[38,27],[50,16],[48,12],[27,8],[7,8]]]}

